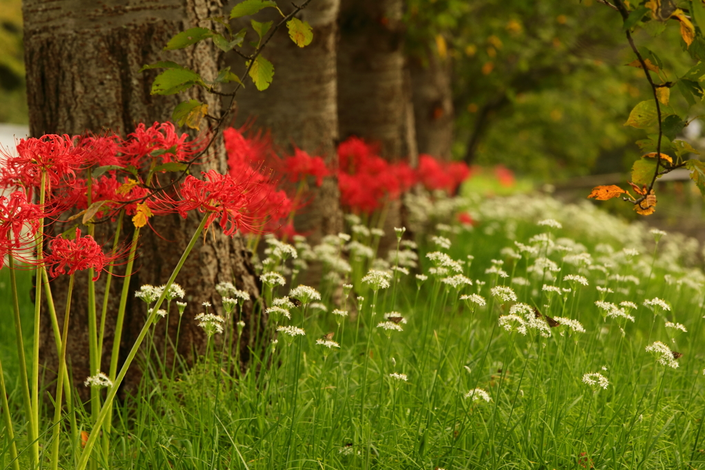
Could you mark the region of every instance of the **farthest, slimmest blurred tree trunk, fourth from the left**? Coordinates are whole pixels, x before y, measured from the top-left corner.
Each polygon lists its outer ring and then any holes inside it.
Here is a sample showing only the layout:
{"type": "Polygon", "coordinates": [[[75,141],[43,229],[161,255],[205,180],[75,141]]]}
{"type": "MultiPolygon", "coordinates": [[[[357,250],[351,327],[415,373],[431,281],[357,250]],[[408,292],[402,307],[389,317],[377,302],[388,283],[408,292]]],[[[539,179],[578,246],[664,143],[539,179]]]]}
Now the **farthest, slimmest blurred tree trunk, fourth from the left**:
{"type": "Polygon", "coordinates": [[[420,154],[450,160],[453,148],[453,89],[449,58],[434,51],[410,61],[416,139],[420,154]]]}

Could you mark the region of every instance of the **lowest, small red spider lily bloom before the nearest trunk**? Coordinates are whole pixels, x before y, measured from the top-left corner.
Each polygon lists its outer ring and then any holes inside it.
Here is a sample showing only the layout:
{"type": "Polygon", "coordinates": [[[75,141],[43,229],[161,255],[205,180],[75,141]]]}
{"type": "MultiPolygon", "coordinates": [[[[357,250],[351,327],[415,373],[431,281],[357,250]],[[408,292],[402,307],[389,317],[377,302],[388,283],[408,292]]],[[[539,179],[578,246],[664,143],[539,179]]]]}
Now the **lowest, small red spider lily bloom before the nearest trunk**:
{"type": "Polygon", "coordinates": [[[93,280],[98,280],[105,265],[117,257],[106,256],[103,253],[103,248],[91,235],[81,236],[80,228],[76,228],[74,240],[64,238],[51,240],[49,250],[51,254],[44,259],[44,264],[49,267],[51,277],[64,273],[71,276],[76,271],[93,268],[95,270],[93,280]]]}

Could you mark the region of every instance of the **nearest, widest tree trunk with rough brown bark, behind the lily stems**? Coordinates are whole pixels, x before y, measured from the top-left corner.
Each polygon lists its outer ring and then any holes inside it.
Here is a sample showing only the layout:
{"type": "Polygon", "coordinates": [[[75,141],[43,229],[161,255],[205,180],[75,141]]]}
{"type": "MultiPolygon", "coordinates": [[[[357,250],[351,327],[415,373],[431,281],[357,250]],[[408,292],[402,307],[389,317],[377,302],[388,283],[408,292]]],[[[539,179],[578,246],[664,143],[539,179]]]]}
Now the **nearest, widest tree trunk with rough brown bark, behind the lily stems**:
{"type": "MultiPolygon", "coordinates": [[[[42,0],[23,1],[27,97],[32,135],[80,134],[86,130],[101,132],[105,129],[125,135],[137,123],[151,125],[157,120],[168,120],[174,106],[188,98],[200,99],[209,104],[210,113],[219,113],[219,99],[199,89],[193,88],[180,96],[152,96],[149,89],[158,72],[149,70],[147,73],[138,73],[140,67],[147,63],[173,60],[196,70],[204,78],[212,78],[216,73],[217,56],[209,42],[180,51],[164,52],[162,48],[177,32],[195,25],[208,25],[205,18],[222,15],[223,9],[218,1],[113,0],[98,2],[93,6],[89,7],[79,0],[54,1],[51,4],[42,0]]],[[[216,149],[222,149],[222,145],[217,144],[216,149]]],[[[209,168],[215,168],[221,173],[226,171],[222,150],[216,152],[212,161],[200,166],[204,171],[209,168]]],[[[197,216],[183,220],[176,215],[155,217],[152,220],[154,230],[159,235],[154,235],[147,228],[142,230],[130,294],[140,285],[161,285],[166,282],[200,221],[197,216]]],[[[131,226],[129,219],[125,222],[127,225],[131,226]]],[[[97,226],[97,240],[110,240],[105,229],[97,226]]],[[[130,240],[131,228],[125,228],[123,233],[123,240],[130,240]]],[[[60,325],[63,323],[68,284],[64,277],[51,283],[60,325]]],[[[106,278],[106,275],[101,276],[97,286],[99,312],[106,278]]],[[[87,276],[84,273],[77,280],[80,282],[77,282],[73,295],[74,314],[71,315],[68,360],[71,362],[74,383],[78,386],[90,375],[90,368],[85,295],[87,276]]],[[[189,302],[178,343],[183,354],[190,355],[193,350],[204,349],[205,336],[194,321],[194,316],[202,311],[202,302],[209,301],[217,306],[217,310],[220,309],[220,302],[214,302],[214,287],[219,281],[231,281],[252,296],[257,296],[257,281],[239,236],[233,239],[223,235],[204,237],[176,279],[186,290],[189,302]]],[[[121,278],[114,278],[111,296],[115,302],[111,304],[106,317],[101,364],[104,372],[109,367],[120,292],[121,278]]],[[[123,355],[132,347],[145,321],[145,306],[140,303],[130,295],[121,341],[123,355]]],[[[252,328],[252,304],[245,307],[244,320],[252,328]]],[[[44,377],[51,381],[58,362],[46,311],[44,309],[42,314],[41,351],[42,363],[47,365],[44,377]]],[[[176,340],[177,323],[178,315],[173,312],[168,321],[158,323],[155,342],[159,348],[164,346],[164,328],[167,324],[172,340],[176,340]]],[[[247,328],[243,336],[247,339],[243,338],[240,350],[241,357],[246,359],[248,350],[245,343],[249,340],[247,328]]],[[[128,386],[134,386],[140,376],[135,369],[133,367],[128,375],[128,386]]],[[[86,390],[82,386],[80,389],[86,390]]]]}

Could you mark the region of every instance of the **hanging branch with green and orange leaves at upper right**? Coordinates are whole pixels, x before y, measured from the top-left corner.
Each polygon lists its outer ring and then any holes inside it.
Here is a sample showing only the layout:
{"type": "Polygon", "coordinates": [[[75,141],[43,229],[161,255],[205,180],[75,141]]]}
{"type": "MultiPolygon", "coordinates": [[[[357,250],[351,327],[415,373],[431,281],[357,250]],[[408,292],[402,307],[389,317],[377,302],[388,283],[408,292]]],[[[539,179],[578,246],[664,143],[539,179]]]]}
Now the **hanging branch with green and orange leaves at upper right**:
{"type": "Polygon", "coordinates": [[[637,56],[636,60],[627,66],[644,70],[653,99],[637,104],[625,123],[647,132],[646,139],[636,142],[644,154],[635,161],[631,181],[627,182],[636,196],[617,185],[608,185],[595,187],[588,197],[599,201],[622,197],[624,201],[634,205],[638,214],[648,216],[656,211],[656,180],[666,173],[684,167],[690,171],[690,178],[705,194],[705,163],[697,159],[685,159],[688,154],[700,152],[688,142],[676,140],[683,128],[695,119],[687,118],[690,107],[701,102],[704,97],[700,82],[705,79],[705,5],[701,0],[685,2],[689,8],[677,8],[671,0],[642,1],[637,6],[622,0],[615,0],[614,4],[607,0],[598,2],[613,8],[622,16],[627,42],[637,56]],[[637,47],[633,37],[640,27],[652,21],[659,22],[658,29],[663,32],[666,25],[671,23],[670,20],[679,23],[680,36],[685,42],[685,47],[697,61],[690,70],[675,80],[668,80],[661,58],[646,47],[637,47]],[[674,87],[688,104],[687,109],[680,110],[680,113],[670,104],[670,90],[674,87]]]}

